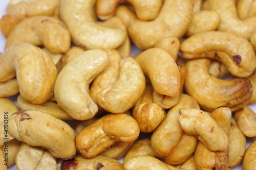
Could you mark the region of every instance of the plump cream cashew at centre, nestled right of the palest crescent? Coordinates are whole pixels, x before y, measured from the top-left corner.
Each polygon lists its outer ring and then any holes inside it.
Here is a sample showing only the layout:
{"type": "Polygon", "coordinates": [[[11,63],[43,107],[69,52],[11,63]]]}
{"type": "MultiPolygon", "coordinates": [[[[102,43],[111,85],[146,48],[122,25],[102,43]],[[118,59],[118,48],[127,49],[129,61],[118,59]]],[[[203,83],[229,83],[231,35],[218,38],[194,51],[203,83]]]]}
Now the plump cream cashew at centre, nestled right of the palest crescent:
{"type": "Polygon", "coordinates": [[[132,57],[120,61],[118,79],[96,95],[101,108],[111,113],[131,109],[143,94],[146,82],[139,63],[132,57]]]}

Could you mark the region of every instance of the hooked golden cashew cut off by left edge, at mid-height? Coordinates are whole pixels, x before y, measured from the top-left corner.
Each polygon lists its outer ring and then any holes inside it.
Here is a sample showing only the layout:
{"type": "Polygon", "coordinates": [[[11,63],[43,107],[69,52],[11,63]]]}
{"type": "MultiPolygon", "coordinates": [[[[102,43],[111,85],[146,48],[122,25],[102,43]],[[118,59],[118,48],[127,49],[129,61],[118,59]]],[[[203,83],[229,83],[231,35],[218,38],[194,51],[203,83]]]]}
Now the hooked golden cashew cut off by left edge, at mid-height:
{"type": "Polygon", "coordinates": [[[53,94],[57,69],[52,59],[29,43],[9,46],[0,55],[0,82],[16,77],[19,92],[33,104],[46,102],[53,94]]]}

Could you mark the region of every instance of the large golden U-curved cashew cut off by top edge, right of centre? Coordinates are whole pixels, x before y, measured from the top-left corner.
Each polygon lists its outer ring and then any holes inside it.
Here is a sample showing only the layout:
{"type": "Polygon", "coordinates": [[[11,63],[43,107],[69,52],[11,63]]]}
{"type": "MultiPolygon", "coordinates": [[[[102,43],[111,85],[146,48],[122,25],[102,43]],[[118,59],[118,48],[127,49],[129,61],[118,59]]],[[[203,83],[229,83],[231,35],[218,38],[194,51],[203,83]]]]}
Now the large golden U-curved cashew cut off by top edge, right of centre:
{"type": "Polygon", "coordinates": [[[134,19],[128,28],[132,41],[141,49],[154,47],[156,42],[167,37],[182,37],[190,23],[191,1],[164,1],[152,21],[134,19]]]}

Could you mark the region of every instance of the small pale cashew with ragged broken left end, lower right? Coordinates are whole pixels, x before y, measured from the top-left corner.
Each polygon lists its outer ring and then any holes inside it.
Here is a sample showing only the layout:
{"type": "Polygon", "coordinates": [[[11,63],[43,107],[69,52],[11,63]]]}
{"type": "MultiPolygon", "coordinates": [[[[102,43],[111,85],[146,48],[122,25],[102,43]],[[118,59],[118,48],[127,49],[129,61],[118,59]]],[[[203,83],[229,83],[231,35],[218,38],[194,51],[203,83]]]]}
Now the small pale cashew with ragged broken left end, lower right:
{"type": "Polygon", "coordinates": [[[205,111],[194,108],[179,109],[178,118],[182,129],[195,135],[210,151],[228,148],[228,136],[216,121],[205,111]]]}

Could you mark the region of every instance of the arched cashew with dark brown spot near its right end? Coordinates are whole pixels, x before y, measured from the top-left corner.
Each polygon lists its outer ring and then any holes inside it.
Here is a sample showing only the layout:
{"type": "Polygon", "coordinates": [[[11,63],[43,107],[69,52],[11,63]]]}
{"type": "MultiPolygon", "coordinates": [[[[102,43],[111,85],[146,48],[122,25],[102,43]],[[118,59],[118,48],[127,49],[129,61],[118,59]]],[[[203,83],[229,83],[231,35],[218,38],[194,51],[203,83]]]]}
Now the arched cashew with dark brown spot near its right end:
{"type": "Polygon", "coordinates": [[[187,59],[217,59],[236,77],[248,77],[256,68],[255,52],[250,42],[227,32],[208,31],[191,36],[181,43],[180,51],[187,59]]]}

